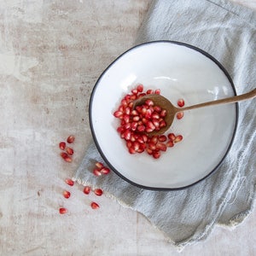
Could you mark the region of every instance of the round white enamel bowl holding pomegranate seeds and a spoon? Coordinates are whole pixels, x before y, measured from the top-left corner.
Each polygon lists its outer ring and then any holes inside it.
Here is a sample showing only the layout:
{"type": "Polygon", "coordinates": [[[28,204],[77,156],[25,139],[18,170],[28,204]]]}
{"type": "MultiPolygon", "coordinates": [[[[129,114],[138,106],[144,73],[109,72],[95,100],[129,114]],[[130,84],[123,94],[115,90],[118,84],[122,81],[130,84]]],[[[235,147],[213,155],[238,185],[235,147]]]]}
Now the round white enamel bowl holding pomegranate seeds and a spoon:
{"type": "Polygon", "coordinates": [[[157,41],[120,55],[102,73],[90,96],[90,128],[102,158],[120,177],[144,189],[182,189],[218,168],[236,133],[238,104],[184,112],[170,132],[183,141],[160,159],[129,154],[113,117],[123,96],[143,84],[186,106],[236,95],[230,75],[211,55],[189,44],[157,41]]]}

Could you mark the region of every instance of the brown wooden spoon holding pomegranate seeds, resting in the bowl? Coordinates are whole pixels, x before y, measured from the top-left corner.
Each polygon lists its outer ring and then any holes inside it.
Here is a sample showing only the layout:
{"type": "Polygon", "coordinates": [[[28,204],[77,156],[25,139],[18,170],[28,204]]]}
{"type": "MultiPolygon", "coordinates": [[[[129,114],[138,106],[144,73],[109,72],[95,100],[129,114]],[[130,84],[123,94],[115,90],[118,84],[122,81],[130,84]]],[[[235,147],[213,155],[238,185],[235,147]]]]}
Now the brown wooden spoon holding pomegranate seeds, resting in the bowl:
{"type": "Polygon", "coordinates": [[[149,132],[148,135],[160,135],[166,132],[169,127],[172,125],[173,119],[175,118],[175,115],[178,112],[183,112],[195,108],[204,108],[208,106],[214,106],[214,105],[220,105],[220,104],[227,104],[227,103],[234,103],[234,102],[241,102],[250,98],[253,98],[256,96],[256,89],[251,90],[245,94],[242,94],[240,96],[232,96],[225,99],[220,99],[212,102],[204,102],[200,104],[195,104],[189,107],[185,108],[176,108],[172,105],[172,103],[167,100],[164,96],[160,96],[158,94],[148,94],[146,96],[142,96],[141,98],[137,99],[133,102],[133,108],[136,108],[138,105],[143,105],[148,99],[152,100],[154,102],[154,105],[160,106],[160,108],[166,109],[166,126],[161,128],[159,131],[152,131],[149,132]]]}

